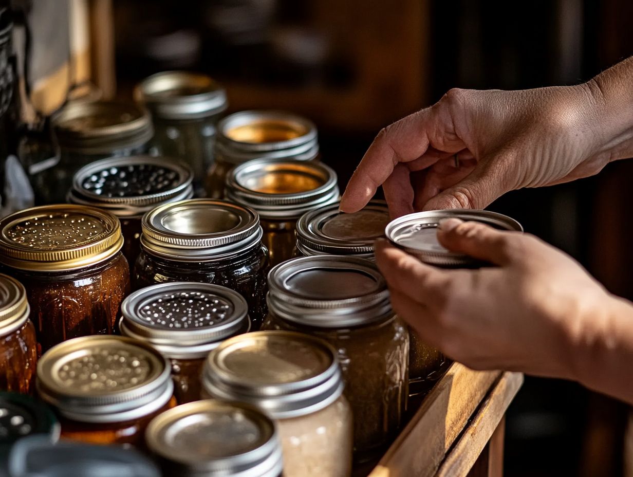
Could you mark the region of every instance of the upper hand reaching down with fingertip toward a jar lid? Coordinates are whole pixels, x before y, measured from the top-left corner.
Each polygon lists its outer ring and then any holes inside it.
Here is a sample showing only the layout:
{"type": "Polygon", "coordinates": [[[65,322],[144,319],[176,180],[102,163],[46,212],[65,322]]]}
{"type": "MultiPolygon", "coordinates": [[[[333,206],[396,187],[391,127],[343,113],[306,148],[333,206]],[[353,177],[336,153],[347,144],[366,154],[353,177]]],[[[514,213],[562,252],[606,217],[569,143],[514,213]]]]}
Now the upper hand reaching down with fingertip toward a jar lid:
{"type": "Polygon", "coordinates": [[[585,84],[451,89],[386,127],[349,181],[343,212],[382,185],[392,217],[484,208],[513,189],[573,181],[633,153],[633,59],[585,84]]]}

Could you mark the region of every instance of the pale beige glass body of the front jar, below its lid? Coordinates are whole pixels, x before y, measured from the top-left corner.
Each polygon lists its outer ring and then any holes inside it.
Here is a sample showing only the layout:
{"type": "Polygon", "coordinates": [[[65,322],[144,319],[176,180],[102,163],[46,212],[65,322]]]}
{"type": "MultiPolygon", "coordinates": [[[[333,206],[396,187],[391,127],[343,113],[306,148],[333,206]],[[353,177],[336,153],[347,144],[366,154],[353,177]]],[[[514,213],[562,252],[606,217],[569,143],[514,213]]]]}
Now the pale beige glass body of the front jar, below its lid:
{"type": "Polygon", "coordinates": [[[343,396],[306,416],[277,419],[284,477],[348,477],[352,413],[343,396]]]}

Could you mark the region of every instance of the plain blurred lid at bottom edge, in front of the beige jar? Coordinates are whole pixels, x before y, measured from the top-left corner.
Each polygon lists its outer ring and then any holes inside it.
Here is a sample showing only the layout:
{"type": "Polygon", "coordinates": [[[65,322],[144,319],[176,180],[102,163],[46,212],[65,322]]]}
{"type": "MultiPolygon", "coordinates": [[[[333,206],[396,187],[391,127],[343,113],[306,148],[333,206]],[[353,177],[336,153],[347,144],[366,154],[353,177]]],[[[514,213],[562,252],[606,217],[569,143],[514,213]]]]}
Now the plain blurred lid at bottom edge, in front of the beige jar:
{"type": "Polygon", "coordinates": [[[154,417],[145,435],[149,450],[179,475],[277,477],[282,471],[275,424],[248,404],[179,405],[154,417]]]}

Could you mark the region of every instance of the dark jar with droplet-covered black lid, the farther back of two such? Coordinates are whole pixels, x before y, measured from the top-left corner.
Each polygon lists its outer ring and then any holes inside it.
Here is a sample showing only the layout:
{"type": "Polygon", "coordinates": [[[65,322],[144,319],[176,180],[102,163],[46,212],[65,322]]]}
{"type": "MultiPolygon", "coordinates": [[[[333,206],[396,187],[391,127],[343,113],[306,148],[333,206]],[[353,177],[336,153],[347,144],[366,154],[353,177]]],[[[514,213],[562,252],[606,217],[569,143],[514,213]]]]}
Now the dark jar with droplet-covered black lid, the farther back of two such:
{"type": "Polygon", "coordinates": [[[154,207],[191,199],[191,169],[167,158],[132,156],[93,162],[77,171],[68,201],[118,217],[123,255],[134,265],[141,253],[141,217],[154,207]]]}

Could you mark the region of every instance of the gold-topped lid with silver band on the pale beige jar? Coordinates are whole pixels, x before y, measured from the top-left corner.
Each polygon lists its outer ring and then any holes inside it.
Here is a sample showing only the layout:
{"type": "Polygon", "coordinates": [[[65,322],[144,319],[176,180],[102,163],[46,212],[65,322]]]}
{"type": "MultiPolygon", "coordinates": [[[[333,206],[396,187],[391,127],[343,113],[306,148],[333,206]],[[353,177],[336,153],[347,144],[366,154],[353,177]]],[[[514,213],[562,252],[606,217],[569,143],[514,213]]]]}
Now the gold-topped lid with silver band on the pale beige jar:
{"type": "Polygon", "coordinates": [[[291,331],[229,338],[207,358],[202,384],[213,397],[256,405],[273,419],[316,412],[343,390],[334,348],[291,331]]]}

